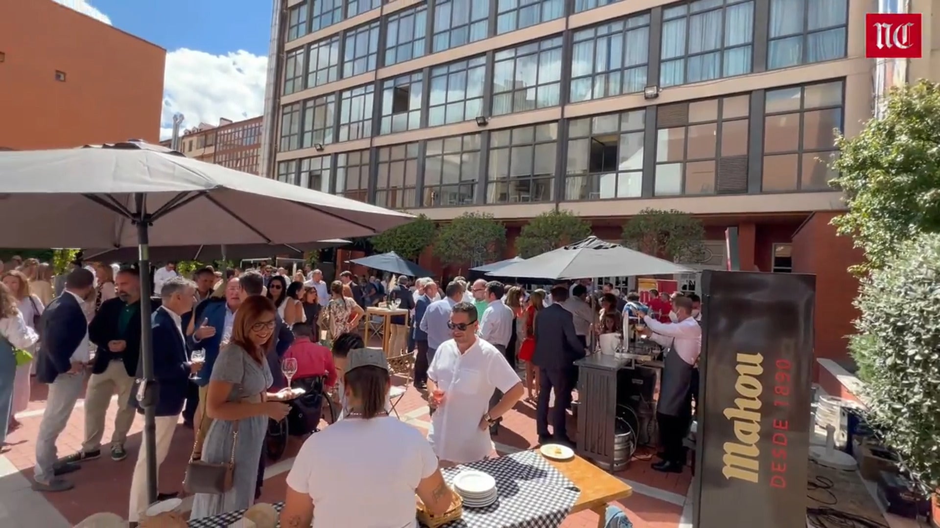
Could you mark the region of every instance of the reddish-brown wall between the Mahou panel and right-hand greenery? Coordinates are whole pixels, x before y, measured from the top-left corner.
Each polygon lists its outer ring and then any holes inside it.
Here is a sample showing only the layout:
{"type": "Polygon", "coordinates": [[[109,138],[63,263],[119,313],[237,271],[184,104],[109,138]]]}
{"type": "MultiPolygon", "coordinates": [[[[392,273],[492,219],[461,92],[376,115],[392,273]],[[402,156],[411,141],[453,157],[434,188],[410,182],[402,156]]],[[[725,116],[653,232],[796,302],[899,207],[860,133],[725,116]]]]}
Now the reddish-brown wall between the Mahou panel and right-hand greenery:
{"type": "Polygon", "coordinates": [[[862,261],[850,237],[839,237],[829,222],[833,212],[816,212],[793,235],[793,272],[816,275],[815,356],[848,359],[848,339],[858,311],[852,305],[858,279],[847,268],[862,261]]]}

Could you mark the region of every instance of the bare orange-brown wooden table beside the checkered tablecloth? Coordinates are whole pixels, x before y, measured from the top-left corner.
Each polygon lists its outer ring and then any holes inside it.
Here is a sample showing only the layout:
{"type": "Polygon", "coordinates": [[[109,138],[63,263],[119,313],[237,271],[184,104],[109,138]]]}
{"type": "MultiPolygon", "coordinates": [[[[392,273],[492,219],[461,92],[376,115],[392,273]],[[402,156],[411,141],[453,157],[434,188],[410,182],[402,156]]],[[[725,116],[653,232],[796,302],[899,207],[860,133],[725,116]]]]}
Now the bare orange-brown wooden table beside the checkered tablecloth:
{"type": "Polygon", "coordinates": [[[624,484],[616,476],[603,471],[601,468],[577,455],[570,460],[549,460],[556,470],[572,481],[574,486],[581,489],[581,495],[572,506],[572,513],[589,509],[599,516],[598,528],[603,528],[607,505],[620,499],[626,499],[634,494],[634,489],[624,484]]]}

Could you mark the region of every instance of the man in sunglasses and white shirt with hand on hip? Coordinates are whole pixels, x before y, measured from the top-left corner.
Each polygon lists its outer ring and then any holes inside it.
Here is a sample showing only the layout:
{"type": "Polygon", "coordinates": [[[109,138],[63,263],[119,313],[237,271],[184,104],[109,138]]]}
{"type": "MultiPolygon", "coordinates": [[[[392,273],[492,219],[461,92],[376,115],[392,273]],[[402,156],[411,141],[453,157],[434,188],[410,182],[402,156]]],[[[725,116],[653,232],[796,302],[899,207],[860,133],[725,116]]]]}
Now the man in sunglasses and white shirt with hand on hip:
{"type": "Polygon", "coordinates": [[[447,323],[453,339],[437,348],[428,369],[431,415],[428,442],[443,464],[462,464],[493,453],[489,427],[525,393],[506,357],[477,337],[477,307],[456,303],[447,323]],[[493,407],[490,395],[504,396],[493,407]]]}

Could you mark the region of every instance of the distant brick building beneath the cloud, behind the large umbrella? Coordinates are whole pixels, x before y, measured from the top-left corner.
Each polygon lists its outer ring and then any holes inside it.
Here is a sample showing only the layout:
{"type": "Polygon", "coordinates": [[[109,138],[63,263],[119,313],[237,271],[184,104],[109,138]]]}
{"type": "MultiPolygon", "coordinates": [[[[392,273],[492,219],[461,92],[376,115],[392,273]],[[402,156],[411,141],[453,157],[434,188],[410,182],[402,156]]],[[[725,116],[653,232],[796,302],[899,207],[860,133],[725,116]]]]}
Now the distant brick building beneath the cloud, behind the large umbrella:
{"type": "MultiPolygon", "coordinates": [[[[163,144],[169,147],[170,141],[163,144]]],[[[189,158],[257,175],[261,116],[234,122],[223,118],[218,126],[199,123],[183,131],[180,151],[189,158]]]]}

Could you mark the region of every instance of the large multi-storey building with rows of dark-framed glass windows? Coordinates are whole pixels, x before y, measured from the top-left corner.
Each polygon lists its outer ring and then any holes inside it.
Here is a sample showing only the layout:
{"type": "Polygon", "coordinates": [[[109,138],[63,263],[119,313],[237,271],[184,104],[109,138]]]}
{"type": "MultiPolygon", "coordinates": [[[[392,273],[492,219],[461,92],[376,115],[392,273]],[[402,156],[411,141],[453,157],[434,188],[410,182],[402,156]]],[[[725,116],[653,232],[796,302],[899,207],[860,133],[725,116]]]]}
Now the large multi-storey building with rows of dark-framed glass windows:
{"type": "MultiPolygon", "coordinates": [[[[509,254],[544,211],[617,240],[641,210],[682,210],[712,250],[692,264],[720,266],[738,227],[744,270],[817,273],[819,322],[849,334],[857,254],[828,225],[842,203],[826,163],[833,131],[872,115],[878,8],[275,0],[262,170],[439,221],[490,213],[509,254]]],[[[835,339],[821,346],[844,350],[835,339]]]]}

